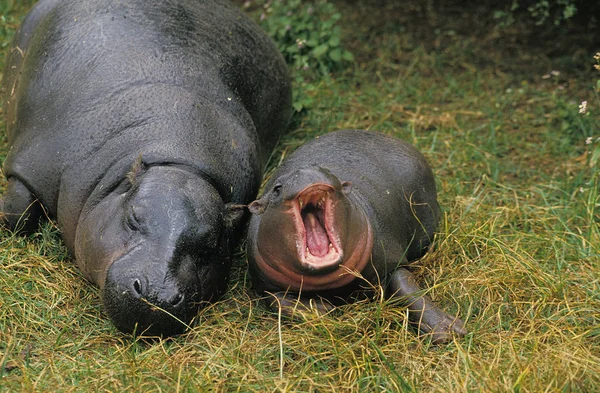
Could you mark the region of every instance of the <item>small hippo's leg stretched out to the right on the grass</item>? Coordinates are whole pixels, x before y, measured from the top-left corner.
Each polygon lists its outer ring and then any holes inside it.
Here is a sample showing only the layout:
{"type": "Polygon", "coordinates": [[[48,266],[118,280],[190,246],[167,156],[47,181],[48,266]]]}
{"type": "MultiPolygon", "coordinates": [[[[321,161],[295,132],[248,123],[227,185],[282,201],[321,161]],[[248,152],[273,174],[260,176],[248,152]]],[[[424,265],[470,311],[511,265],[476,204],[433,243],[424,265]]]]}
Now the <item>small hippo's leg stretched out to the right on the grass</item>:
{"type": "Polygon", "coordinates": [[[418,294],[421,288],[408,270],[396,270],[389,289],[393,297],[401,298],[408,307],[411,323],[431,336],[432,343],[446,343],[452,341],[453,336],[462,337],[468,333],[460,318],[446,313],[427,296],[418,294]]]}

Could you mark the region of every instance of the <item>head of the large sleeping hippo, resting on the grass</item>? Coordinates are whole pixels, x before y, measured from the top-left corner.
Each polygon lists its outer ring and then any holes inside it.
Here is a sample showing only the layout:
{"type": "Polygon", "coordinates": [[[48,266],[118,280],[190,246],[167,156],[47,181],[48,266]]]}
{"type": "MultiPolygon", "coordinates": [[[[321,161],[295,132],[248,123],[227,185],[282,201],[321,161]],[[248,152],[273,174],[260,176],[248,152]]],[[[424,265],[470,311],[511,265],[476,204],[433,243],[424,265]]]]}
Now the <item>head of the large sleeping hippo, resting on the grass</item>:
{"type": "Polygon", "coordinates": [[[224,290],[242,215],[186,168],[137,168],[80,218],[76,259],[121,331],[178,334],[224,290]]]}

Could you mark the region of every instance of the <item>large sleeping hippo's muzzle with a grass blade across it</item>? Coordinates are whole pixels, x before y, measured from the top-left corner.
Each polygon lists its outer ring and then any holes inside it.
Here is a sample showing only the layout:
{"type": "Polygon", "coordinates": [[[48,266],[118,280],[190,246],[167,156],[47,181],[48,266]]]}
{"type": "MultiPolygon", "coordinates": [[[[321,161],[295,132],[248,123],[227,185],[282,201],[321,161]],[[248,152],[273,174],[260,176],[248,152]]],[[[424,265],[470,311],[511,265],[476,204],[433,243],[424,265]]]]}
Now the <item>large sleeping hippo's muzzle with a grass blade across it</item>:
{"type": "Polygon", "coordinates": [[[166,257],[140,245],[113,262],[102,297],[117,328],[174,335],[188,327],[203,300],[209,300],[202,293],[207,283],[200,284],[198,273],[210,269],[203,269],[197,257],[178,254],[175,250],[166,257]]]}

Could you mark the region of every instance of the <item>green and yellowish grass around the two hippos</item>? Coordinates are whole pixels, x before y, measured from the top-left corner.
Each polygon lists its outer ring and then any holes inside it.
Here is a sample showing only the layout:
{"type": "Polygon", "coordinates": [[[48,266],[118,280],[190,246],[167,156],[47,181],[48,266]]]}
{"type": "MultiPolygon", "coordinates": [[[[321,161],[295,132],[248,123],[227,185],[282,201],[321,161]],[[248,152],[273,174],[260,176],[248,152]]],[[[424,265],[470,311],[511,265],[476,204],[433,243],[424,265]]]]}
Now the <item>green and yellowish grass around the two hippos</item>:
{"type": "MultiPolygon", "coordinates": [[[[135,340],[111,325],[48,224],[0,237],[0,391],[598,390],[600,173],[585,144],[600,136],[597,34],[498,30],[490,15],[447,4],[368,3],[336,2],[355,63],[297,87],[313,107],[270,167],[340,128],[414,143],[445,210],[414,271],[470,334],[432,346],[381,299],[279,324],[240,254],[227,295],[192,331],[135,340]],[[584,99],[589,116],[578,113],[584,99]]],[[[3,10],[4,48],[20,4],[3,10]]]]}

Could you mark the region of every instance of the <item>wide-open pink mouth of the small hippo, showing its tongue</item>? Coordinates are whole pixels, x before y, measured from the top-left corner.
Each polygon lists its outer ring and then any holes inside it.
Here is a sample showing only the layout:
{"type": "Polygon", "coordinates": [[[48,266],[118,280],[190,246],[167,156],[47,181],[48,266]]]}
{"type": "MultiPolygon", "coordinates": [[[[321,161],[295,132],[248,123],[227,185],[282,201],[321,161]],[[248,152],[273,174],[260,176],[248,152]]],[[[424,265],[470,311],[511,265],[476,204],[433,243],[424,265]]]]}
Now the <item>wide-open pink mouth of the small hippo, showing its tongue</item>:
{"type": "Polygon", "coordinates": [[[335,190],[329,185],[311,185],[298,194],[293,206],[299,260],[314,273],[329,272],[343,259],[333,225],[334,194],[335,190]]]}

